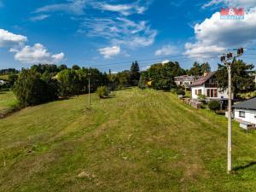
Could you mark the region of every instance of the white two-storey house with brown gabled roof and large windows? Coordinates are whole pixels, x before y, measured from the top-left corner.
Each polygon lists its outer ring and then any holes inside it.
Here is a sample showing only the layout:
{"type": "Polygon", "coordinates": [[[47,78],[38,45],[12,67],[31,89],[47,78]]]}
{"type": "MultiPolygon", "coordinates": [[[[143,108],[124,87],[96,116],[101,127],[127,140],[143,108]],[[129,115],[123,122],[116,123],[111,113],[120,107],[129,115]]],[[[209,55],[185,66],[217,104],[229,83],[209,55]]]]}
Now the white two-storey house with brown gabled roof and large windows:
{"type": "Polygon", "coordinates": [[[228,99],[228,91],[222,91],[218,88],[215,74],[216,72],[204,73],[200,79],[190,85],[192,99],[197,99],[199,95],[205,95],[210,100],[228,99]]]}

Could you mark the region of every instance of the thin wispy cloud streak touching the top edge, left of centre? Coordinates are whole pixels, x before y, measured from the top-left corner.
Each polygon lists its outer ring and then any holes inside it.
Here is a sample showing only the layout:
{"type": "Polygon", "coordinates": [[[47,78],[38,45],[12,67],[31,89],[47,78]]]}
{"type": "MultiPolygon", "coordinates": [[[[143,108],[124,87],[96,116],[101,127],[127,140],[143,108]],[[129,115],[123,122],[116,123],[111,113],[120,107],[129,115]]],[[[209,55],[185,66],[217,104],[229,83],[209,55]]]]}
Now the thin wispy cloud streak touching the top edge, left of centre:
{"type": "Polygon", "coordinates": [[[64,11],[74,15],[83,15],[87,0],[69,0],[68,3],[55,3],[37,9],[34,13],[64,11]]]}

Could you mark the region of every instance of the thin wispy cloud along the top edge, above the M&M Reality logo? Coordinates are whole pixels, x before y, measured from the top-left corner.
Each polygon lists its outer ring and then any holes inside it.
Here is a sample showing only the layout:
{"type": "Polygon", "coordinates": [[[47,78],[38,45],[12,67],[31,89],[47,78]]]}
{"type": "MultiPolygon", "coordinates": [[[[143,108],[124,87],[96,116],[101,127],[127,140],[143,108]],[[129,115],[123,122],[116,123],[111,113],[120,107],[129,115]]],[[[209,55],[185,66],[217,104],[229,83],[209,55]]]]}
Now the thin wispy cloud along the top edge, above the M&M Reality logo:
{"type": "Polygon", "coordinates": [[[236,6],[241,6],[241,7],[254,7],[256,6],[256,1],[255,0],[211,0],[208,3],[204,4],[202,6],[203,9],[207,7],[211,7],[214,5],[218,5],[223,3],[224,5],[227,5],[229,7],[236,7],[236,6]]]}

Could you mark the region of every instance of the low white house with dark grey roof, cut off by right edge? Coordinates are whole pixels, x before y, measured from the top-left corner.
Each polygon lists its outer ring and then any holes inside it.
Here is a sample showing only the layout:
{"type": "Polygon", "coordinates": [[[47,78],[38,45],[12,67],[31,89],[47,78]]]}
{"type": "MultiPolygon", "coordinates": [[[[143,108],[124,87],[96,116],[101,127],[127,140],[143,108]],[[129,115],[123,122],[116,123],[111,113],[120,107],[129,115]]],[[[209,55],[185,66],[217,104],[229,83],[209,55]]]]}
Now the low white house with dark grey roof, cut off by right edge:
{"type": "Polygon", "coordinates": [[[233,105],[234,118],[240,122],[241,128],[247,129],[248,126],[256,125],[256,97],[233,105]]]}

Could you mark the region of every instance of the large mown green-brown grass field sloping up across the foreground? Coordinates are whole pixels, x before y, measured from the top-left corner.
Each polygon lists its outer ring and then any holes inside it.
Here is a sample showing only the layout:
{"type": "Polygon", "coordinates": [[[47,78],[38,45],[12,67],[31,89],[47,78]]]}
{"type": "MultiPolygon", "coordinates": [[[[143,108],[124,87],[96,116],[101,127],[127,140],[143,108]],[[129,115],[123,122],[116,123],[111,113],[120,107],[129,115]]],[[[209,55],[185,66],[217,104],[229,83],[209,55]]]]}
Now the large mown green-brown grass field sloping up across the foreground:
{"type": "Polygon", "coordinates": [[[155,90],[120,90],[0,119],[0,191],[256,191],[256,133],[155,90]]]}

